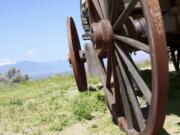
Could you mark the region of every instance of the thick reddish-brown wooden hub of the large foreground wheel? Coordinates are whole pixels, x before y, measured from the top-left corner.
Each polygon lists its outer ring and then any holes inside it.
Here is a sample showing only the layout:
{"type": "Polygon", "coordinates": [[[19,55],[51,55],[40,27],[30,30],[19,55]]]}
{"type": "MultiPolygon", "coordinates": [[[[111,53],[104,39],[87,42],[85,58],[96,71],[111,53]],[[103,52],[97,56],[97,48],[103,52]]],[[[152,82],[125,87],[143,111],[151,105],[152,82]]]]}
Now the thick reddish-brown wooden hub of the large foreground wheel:
{"type": "Polygon", "coordinates": [[[113,29],[107,19],[92,24],[96,49],[108,49],[113,44],[113,29]]]}

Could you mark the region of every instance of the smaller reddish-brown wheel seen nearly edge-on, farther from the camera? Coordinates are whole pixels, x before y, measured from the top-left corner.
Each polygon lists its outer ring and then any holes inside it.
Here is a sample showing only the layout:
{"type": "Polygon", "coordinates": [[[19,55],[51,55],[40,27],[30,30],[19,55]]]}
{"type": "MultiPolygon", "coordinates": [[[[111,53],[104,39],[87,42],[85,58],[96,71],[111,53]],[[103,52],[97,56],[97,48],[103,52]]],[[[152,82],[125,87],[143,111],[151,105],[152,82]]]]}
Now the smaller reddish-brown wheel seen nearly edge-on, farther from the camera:
{"type": "Polygon", "coordinates": [[[67,33],[69,43],[69,62],[72,64],[75,80],[79,91],[87,90],[87,78],[84,60],[80,57],[80,42],[73,18],[67,19],[67,33]]]}

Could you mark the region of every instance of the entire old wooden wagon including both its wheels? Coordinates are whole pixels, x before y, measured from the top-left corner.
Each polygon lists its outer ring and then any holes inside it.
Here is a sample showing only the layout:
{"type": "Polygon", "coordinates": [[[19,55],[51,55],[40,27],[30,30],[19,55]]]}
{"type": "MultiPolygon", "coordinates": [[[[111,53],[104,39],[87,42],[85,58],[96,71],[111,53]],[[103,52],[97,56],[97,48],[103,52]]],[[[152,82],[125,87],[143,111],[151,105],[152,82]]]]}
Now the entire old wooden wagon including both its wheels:
{"type": "Polygon", "coordinates": [[[86,68],[100,76],[115,124],[129,135],[159,135],[168,102],[168,60],[179,71],[179,0],[81,0],[84,49],[72,17],[67,19],[69,62],[79,91],[86,68]],[[150,83],[134,52],[151,63],[150,83]],[[169,56],[169,57],[168,57],[169,56]]]}

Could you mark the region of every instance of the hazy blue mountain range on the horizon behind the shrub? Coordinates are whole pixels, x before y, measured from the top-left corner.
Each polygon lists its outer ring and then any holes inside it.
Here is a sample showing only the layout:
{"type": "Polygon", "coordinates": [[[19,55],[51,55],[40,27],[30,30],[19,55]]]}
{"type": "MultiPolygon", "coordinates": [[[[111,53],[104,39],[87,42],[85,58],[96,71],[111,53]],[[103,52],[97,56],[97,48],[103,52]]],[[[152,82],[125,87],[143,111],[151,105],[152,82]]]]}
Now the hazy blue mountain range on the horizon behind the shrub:
{"type": "Polygon", "coordinates": [[[46,63],[21,61],[14,64],[0,65],[0,73],[4,73],[12,67],[17,68],[23,73],[28,74],[32,79],[72,72],[72,69],[70,68],[69,62],[67,60],[58,60],[46,63]]]}

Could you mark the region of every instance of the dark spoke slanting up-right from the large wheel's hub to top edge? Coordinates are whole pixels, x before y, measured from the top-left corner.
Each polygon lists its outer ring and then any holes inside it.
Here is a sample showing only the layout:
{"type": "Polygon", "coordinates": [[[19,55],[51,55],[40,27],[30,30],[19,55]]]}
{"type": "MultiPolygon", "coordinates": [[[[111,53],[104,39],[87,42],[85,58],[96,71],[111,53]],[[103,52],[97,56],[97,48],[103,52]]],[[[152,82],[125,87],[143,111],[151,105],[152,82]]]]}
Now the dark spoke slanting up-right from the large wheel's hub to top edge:
{"type": "Polygon", "coordinates": [[[117,26],[121,27],[126,22],[126,19],[131,14],[138,1],[139,0],[131,0],[129,2],[128,6],[123,10],[123,12],[119,15],[118,19],[115,21],[113,25],[113,30],[115,30],[117,26]]]}

